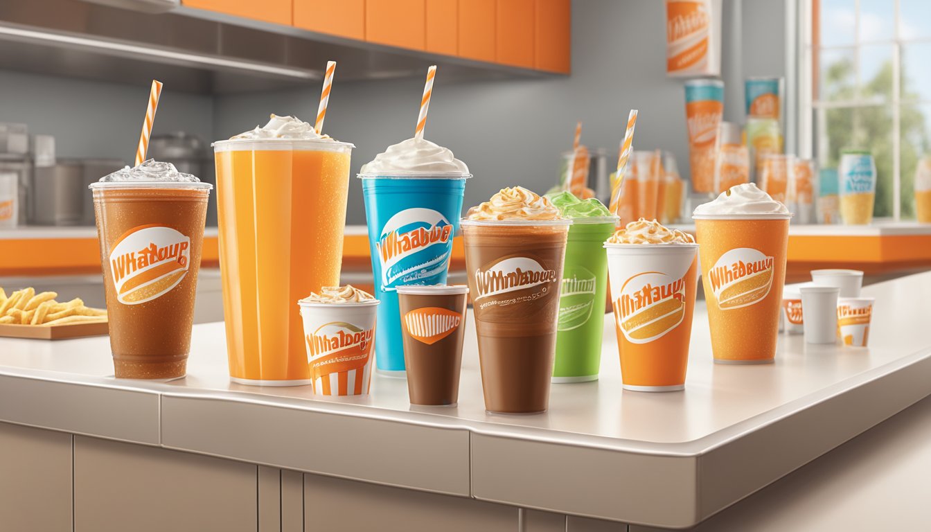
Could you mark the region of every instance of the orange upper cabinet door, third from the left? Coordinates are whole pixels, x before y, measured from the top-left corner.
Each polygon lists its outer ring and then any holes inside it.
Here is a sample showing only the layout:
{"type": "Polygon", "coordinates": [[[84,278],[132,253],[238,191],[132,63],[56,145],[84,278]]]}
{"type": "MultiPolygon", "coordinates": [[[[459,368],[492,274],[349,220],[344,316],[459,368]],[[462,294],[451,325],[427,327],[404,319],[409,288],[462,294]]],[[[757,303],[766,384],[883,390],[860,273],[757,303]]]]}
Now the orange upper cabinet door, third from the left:
{"type": "Polygon", "coordinates": [[[425,0],[366,0],[365,39],[371,43],[425,49],[425,0]]]}

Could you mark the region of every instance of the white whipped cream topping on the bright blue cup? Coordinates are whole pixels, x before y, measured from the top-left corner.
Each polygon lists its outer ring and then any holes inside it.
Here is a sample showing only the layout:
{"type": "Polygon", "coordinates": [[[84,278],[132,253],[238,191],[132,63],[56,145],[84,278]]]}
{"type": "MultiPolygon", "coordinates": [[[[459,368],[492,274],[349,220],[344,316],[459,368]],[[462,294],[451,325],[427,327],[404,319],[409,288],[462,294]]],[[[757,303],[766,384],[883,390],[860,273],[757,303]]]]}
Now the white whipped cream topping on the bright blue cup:
{"type": "Polygon", "coordinates": [[[449,148],[416,137],[388,146],[384,152],[362,165],[359,173],[468,173],[466,163],[452,156],[449,148]]]}

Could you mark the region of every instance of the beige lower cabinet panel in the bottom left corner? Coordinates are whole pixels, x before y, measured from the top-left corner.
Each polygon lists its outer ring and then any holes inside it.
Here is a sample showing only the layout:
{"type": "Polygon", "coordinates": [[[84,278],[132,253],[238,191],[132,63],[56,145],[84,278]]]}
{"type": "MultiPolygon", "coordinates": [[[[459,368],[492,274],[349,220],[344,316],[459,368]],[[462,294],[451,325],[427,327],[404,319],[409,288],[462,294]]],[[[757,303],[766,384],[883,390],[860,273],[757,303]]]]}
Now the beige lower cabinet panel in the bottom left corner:
{"type": "Polygon", "coordinates": [[[71,434],[0,423],[0,530],[71,532],[71,434]]]}

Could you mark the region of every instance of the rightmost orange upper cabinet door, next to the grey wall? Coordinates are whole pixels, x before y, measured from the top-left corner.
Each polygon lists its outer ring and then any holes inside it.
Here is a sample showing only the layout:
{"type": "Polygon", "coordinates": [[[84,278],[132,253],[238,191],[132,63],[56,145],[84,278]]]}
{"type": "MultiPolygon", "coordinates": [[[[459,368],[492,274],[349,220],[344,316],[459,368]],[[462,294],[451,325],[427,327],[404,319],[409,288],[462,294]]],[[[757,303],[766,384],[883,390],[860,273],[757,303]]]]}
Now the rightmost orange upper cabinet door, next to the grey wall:
{"type": "Polygon", "coordinates": [[[572,6],[570,0],[535,0],[533,67],[569,74],[572,58],[572,6]]]}

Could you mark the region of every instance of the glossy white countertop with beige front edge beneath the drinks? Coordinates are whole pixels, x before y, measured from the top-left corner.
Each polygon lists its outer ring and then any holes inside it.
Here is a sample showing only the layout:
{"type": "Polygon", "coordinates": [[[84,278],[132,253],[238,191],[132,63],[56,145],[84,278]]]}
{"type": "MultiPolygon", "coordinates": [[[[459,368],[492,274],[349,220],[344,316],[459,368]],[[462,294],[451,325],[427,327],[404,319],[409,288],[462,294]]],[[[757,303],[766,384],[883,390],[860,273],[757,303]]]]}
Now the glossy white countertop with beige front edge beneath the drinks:
{"type": "Polygon", "coordinates": [[[412,406],[406,382],[382,375],[374,376],[371,396],[348,399],[317,398],[309,387],[231,384],[222,323],[195,326],[188,375],[169,383],[108,376],[113,368],[106,337],[59,342],[0,338],[0,421],[528,508],[628,523],[689,525],[931,394],[931,272],[871,285],[864,293],[877,300],[870,348],[810,346],[800,335],[781,336],[776,363],[757,366],[712,363],[707,313],[699,303],[686,389],[661,394],[621,389],[613,320],[606,316],[600,381],[553,385],[549,411],[533,416],[485,412],[471,319],[466,321],[459,404],[452,408],[412,406]],[[40,388],[32,397],[56,411],[24,397],[40,388]],[[71,393],[76,394],[74,404],[65,400],[71,393]],[[94,414],[76,406],[88,393],[97,394],[87,400],[97,405],[94,414]],[[129,416],[127,409],[136,402],[140,413],[129,416]],[[75,410],[69,414],[69,408],[75,410]],[[108,412],[123,421],[108,419],[108,412]],[[278,421],[276,416],[281,416],[278,421]],[[254,424],[280,432],[287,426],[286,433],[296,431],[292,435],[331,444],[338,452],[349,436],[324,428],[350,419],[358,422],[357,430],[374,430],[375,425],[388,430],[366,469],[347,465],[344,471],[338,459],[320,461],[306,456],[302,446],[251,441],[256,436],[242,430],[254,424]],[[804,427],[820,432],[815,437],[804,427]],[[391,443],[394,430],[397,447],[391,443]],[[465,461],[457,457],[453,467],[452,455],[425,453],[420,445],[434,437],[451,449],[465,449],[465,461]],[[423,461],[421,470],[380,469],[398,453],[423,461]],[[769,453],[767,462],[748,469],[746,460],[757,453],[769,453]],[[562,459],[592,459],[600,466],[586,472],[543,465],[562,459]],[[622,487],[631,490],[623,500],[598,491],[607,482],[600,476],[624,478],[638,468],[665,471],[668,483],[677,487],[622,487]],[[716,485],[713,475],[702,476],[708,468],[731,474],[733,482],[716,485]],[[430,476],[434,470],[436,478],[430,476]],[[466,478],[459,479],[460,474],[466,478]],[[543,476],[534,483],[533,475],[543,476]],[[565,489],[590,483],[597,493],[587,493],[586,500],[560,498],[562,487],[554,482],[565,483],[565,489]],[[528,483],[546,489],[533,490],[528,483]],[[666,494],[672,510],[648,508],[648,498],[655,497],[651,489],[666,494]]]}

